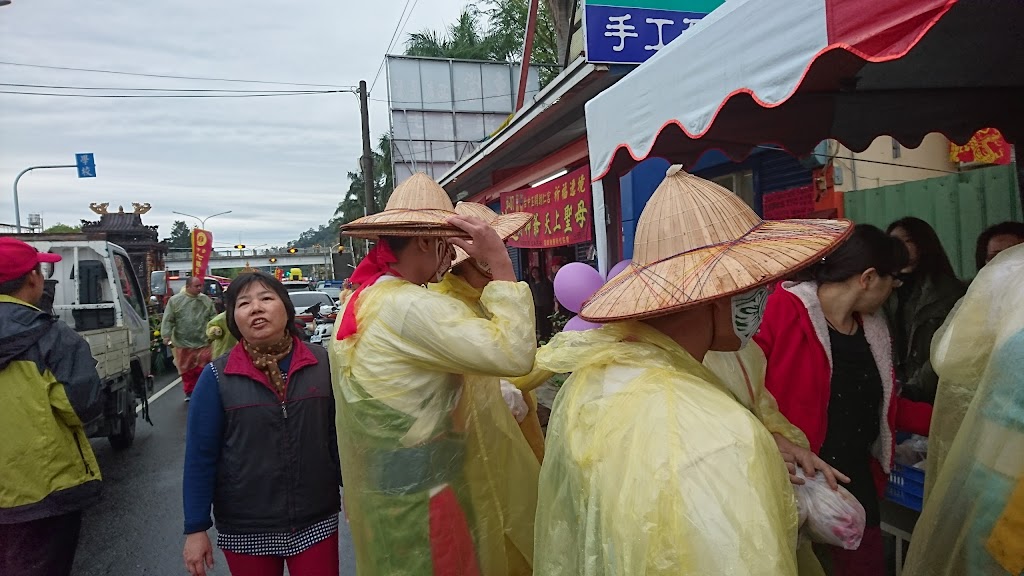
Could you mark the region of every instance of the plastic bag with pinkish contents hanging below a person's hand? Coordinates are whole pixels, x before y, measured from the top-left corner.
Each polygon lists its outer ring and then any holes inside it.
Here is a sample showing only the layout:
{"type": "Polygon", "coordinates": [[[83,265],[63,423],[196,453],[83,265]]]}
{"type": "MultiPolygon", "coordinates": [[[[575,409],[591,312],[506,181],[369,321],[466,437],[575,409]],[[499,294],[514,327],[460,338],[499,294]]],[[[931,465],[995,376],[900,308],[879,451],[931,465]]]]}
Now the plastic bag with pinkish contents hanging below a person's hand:
{"type": "Polygon", "coordinates": [[[798,467],[797,476],[805,480],[802,486],[794,488],[807,536],[815,542],[848,550],[859,548],[867,520],[864,506],[846,488],[829,488],[824,475],[807,478],[804,470],[798,467]]]}

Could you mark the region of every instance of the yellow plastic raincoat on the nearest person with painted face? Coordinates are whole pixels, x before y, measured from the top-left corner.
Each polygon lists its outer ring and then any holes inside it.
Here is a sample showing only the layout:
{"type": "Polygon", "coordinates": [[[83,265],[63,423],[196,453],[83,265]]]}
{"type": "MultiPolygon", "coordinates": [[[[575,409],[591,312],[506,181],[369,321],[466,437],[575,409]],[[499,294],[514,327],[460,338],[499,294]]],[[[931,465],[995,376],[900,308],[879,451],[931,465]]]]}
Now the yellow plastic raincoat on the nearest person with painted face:
{"type": "Polygon", "coordinates": [[[639,322],[563,332],[537,364],[572,375],[548,423],[536,574],[797,574],[778,448],[721,378],[639,322]]]}

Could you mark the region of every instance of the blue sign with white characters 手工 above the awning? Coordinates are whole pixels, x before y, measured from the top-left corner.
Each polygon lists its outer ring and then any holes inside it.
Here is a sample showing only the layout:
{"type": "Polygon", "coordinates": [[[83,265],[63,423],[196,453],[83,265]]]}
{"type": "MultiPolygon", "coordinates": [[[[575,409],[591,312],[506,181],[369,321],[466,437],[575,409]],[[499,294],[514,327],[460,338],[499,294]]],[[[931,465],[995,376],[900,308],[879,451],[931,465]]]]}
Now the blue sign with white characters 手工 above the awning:
{"type": "Polygon", "coordinates": [[[641,64],[724,0],[586,0],[587,60],[641,64]]]}

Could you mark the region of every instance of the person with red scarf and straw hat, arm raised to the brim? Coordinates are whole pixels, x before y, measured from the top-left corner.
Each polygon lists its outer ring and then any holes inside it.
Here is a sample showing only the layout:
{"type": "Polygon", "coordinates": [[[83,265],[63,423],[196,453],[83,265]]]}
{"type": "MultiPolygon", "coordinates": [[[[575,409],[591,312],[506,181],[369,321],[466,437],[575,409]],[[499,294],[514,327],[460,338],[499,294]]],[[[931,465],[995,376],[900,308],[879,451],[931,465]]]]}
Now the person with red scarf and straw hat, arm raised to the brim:
{"type": "MultiPolygon", "coordinates": [[[[532,553],[507,553],[503,510],[476,485],[475,460],[507,470],[508,443],[485,421],[472,379],[528,372],[537,340],[529,288],[515,281],[502,239],[459,216],[425,174],[395,189],[384,211],[342,225],[377,241],[352,274],[331,345],[338,444],[358,573],[528,574],[532,553]],[[471,240],[472,242],[469,242],[471,240]],[[485,315],[423,286],[440,280],[452,245],[493,280],[485,315]],[[474,402],[463,402],[471,395],[474,402]],[[474,465],[467,465],[468,459],[474,465]]],[[[500,398],[497,402],[501,402],[500,398]]],[[[493,408],[493,407],[490,407],[493,408]]],[[[502,403],[499,409],[507,413],[502,403]]],[[[527,460],[528,461],[528,460],[527,460]]]]}

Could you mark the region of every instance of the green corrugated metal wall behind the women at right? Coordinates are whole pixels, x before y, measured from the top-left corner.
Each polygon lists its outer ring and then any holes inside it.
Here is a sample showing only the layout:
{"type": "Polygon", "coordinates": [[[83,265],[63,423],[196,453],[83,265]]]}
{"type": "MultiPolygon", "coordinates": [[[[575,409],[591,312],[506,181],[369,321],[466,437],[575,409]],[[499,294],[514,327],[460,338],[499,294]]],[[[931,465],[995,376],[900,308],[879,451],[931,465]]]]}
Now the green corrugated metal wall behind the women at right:
{"type": "Polygon", "coordinates": [[[935,229],[961,278],[974,278],[975,244],[986,228],[1021,220],[1016,166],[994,166],[844,195],[846,217],[885,229],[916,216],[935,229]]]}

